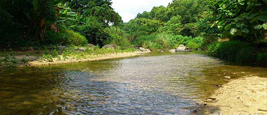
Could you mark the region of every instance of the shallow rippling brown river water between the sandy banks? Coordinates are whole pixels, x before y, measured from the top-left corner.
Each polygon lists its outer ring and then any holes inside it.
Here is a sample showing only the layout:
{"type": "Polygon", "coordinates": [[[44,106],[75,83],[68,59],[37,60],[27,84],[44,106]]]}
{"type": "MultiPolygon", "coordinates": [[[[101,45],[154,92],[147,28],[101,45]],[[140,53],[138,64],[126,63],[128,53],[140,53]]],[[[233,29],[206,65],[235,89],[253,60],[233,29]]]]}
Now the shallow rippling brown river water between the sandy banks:
{"type": "Polygon", "coordinates": [[[0,71],[0,114],[190,114],[225,76],[267,77],[198,53],[0,71]]]}

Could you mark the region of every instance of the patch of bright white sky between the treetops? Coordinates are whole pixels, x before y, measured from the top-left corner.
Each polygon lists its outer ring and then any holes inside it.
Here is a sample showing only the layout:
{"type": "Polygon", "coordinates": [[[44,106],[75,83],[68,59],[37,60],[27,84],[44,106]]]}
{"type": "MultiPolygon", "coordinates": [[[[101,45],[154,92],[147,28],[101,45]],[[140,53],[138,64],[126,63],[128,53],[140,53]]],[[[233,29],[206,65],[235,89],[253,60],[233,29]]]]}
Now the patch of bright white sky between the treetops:
{"type": "Polygon", "coordinates": [[[123,21],[127,23],[133,18],[136,18],[138,13],[144,11],[151,11],[154,6],[164,5],[173,0],[112,0],[112,8],[123,18],[123,21]]]}

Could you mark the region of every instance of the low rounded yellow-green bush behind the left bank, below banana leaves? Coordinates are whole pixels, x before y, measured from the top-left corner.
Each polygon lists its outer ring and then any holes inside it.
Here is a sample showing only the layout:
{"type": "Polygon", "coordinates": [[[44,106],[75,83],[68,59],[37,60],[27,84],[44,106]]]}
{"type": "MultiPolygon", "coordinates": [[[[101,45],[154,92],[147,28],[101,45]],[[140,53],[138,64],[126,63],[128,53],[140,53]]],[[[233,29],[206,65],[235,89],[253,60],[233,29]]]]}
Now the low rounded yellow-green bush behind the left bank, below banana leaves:
{"type": "Polygon", "coordinates": [[[60,30],[60,32],[47,31],[44,43],[75,46],[86,46],[88,44],[84,36],[72,30],[60,30]]]}

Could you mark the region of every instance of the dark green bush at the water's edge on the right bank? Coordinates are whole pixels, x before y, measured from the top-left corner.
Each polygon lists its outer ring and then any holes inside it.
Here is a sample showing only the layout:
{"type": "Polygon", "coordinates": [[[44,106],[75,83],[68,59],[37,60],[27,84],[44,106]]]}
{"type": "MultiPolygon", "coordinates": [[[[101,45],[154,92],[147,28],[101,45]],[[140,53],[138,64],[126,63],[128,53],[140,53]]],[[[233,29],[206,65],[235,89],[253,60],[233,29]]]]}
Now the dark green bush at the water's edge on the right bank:
{"type": "Polygon", "coordinates": [[[245,42],[227,41],[209,44],[207,54],[233,62],[254,62],[253,49],[245,42]]]}

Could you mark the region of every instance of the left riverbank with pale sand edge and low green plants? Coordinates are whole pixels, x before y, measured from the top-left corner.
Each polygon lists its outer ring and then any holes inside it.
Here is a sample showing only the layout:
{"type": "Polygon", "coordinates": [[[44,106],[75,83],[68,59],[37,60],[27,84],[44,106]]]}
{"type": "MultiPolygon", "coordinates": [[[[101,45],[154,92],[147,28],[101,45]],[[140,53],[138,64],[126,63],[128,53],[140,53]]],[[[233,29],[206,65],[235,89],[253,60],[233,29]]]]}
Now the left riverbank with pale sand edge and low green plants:
{"type": "Polygon", "coordinates": [[[151,51],[136,51],[135,49],[99,49],[99,48],[70,48],[52,49],[47,51],[12,51],[2,53],[0,68],[14,68],[21,66],[42,66],[53,64],[66,64],[73,62],[86,62],[95,60],[108,60],[123,57],[133,57],[151,51]]]}

